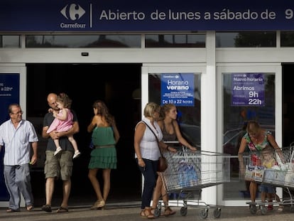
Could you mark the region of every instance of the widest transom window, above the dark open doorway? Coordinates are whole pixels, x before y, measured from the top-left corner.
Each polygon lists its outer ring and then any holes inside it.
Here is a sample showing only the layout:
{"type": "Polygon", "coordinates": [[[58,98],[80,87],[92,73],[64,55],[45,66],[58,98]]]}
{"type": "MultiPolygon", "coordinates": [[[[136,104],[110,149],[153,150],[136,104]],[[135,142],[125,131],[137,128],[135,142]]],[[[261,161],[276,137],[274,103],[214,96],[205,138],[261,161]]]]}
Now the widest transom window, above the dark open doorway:
{"type": "Polygon", "coordinates": [[[26,48],[141,48],[141,36],[26,36],[26,48]]]}

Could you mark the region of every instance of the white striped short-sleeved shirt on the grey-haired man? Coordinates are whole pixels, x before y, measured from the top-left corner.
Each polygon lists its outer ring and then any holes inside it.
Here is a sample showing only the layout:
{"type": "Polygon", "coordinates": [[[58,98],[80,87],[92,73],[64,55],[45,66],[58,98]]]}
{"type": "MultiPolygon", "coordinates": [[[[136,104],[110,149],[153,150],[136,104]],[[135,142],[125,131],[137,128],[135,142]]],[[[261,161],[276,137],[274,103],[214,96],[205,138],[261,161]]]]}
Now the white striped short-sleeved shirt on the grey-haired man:
{"type": "Polygon", "coordinates": [[[16,166],[31,161],[31,142],[38,142],[31,122],[21,120],[17,128],[11,119],[0,126],[0,146],[4,146],[4,165],[16,166]]]}

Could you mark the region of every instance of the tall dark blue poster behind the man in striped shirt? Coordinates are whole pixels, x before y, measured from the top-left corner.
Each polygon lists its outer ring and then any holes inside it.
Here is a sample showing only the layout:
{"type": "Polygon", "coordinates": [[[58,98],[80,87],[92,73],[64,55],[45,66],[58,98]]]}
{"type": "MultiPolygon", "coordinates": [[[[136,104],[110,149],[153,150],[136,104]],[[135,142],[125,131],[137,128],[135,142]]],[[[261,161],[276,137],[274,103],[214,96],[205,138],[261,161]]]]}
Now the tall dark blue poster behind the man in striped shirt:
{"type": "MultiPolygon", "coordinates": [[[[0,73],[0,124],[9,119],[9,104],[19,104],[19,73],[0,73]]],[[[8,201],[9,193],[6,189],[3,175],[3,158],[5,146],[0,151],[0,201],[8,201]]]]}

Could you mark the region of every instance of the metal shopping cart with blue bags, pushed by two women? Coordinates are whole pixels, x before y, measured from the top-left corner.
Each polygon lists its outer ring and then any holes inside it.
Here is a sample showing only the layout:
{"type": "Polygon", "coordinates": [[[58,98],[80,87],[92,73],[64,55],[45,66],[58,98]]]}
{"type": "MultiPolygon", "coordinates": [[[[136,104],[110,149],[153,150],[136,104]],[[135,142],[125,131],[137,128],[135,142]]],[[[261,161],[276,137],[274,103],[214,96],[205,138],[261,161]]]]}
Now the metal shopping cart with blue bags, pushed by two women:
{"type": "MultiPolygon", "coordinates": [[[[214,217],[219,217],[221,208],[201,201],[201,191],[230,181],[229,154],[191,151],[180,146],[177,152],[165,151],[163,155],[168,160],[168,168],[160,176],[167,194],[178,195],[176,205],[181,207],[180,215],[187,215],[188,207],[201,206],[200,216],[205,219],[209,208],[214,206],[214,217]]],[[[159,201],[155,216],[160,215],[161,207],[162,202],[159,201]]]]}

